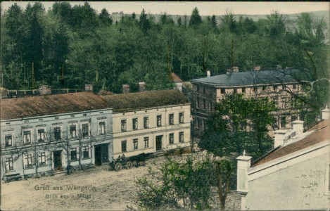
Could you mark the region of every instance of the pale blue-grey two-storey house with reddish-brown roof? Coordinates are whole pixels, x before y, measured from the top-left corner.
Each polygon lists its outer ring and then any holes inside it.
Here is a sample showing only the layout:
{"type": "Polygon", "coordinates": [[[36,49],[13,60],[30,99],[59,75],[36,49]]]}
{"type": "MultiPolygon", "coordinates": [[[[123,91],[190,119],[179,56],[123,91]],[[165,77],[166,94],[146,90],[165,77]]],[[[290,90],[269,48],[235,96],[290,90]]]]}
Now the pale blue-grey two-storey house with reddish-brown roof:
{"type": "Polygon", "coordinates": [[[2,99],[1,172],[32,177],[101,164],[113,154],[112,113],[91,92],[2,99]]]}

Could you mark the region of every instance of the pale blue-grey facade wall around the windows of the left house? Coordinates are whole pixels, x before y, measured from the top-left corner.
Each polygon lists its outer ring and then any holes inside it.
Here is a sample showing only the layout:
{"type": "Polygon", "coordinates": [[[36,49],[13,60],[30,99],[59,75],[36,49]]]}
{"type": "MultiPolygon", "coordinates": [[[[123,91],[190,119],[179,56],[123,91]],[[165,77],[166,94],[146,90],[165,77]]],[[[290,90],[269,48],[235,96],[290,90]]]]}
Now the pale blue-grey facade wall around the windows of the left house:
{"type": "MultiPolygon", "coordinates": [[[[50,172],[54,170],[54,151],[61,151],[61,165],[68,165],[70,152],[68,148],[77,148],[77,159],[82,164],[94,163],[94,146],[112,141],[112,109],[84,111],[76,113],[64,113],[59,115],[44,115],[39,117],[26,117],[17,120],[1,120],[1,178],[6,174],[28,175],[50,172]],[[105,133],[99,134],[99,122],[105,122],[105,133]],[[89,136],[82,138],[82,124],[89,124],[89,136]],[[70,125],[76,125],[77,136],[70,137],[70,125]],[[61,140],[54,140],[54,127],[61,128],[61,140]],[[44,142],[38,141],[38,129],[44,129],[44,142]],[[23,132],[31,132],[31,143],[23,144],[23,132]],[[5,136],[11,134],[12,146],[5,145],[5,136]],[[80,156],[80,146],[89,146],[89,158],[80,156]],[[39,155],[45,153],[45,165],[39,165],[39,155]],[[67,156],[68,154],[68,156],[67,156]],[[26,167],[26,155],[32,155],[32,166],[26,167]],[[6,158],[13,157],[13,170],[6,167],[6,158]],[[37,167],[38,166],[38,167],[37,167]],[[7,170],[6,170],[7,169],[7,170]]],[[[108,149],[112,153],[111,149],[108,149]]],[[[82,153],[81,153],[82,154],[82,153]]],[[[78,165],[78,161],[72,161],[71,165],[78,165]]]]}

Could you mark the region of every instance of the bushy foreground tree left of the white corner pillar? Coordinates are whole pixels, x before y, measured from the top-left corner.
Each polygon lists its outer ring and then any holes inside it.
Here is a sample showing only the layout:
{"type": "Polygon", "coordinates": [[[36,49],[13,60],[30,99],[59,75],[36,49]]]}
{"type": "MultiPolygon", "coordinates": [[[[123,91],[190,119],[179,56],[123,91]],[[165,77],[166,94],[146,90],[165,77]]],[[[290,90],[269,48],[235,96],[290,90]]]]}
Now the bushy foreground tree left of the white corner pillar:
{"type": "Polygon", "coordinates": [[[218,198],[224,210],[231,176],[230,162],[210,153],[167,156],[159,170],[149,168],[137,179],[136,205],[139,210],[209,210],[218,198]]]}

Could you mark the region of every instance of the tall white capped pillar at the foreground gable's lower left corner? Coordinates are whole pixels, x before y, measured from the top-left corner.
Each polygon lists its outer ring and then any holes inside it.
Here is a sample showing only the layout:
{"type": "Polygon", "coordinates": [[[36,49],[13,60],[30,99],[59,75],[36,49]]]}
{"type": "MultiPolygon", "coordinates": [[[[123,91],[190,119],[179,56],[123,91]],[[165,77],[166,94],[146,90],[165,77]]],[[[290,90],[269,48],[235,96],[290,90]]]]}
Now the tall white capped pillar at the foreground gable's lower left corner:
{"type": "Polygon", "coordinates": [[[250,156],[243,155],[236,158],[237,160],[237,192],[241,195],[241,210],[246,210],[246,194],[248,194],[248,168],[251,166],[250,156]]]}

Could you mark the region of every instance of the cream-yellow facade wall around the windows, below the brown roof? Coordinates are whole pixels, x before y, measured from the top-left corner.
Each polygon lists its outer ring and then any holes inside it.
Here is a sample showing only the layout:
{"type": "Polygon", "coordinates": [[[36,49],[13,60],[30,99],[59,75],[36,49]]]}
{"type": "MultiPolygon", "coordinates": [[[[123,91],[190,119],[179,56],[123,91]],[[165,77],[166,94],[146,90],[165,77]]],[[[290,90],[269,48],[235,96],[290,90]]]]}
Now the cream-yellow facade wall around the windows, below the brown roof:
{"type": "Polygon", "coordinates": [[[190,105],[163,106],[144,110],[132,110],[113,114],[113,150],[114,158],[125,153],[126,157],[139,153],[156,152],[156,136],[163,136],[162,148],[172,149],[190,146],[190,105]],[[184,123],[179,123],[179,113],[184,113],[184,123]],[[174,115],[174,124],[169,124],[169,115],[174,115]],[[162,126],[157,127],[157,116],[162,116],[162,126]],[[144,128],[144,117],[148,117],[148,128],[144,128]],[[132,129],[132,119],[138,119],[138,129],[132,129]],[[121,120],[126,120],[126,132],[121,130],[121,120]],[[179,132],[184,132],[184,142],[179,143],[179,132]],[[169,134],[174,133],[174,143],[169,143],[169,134]],[[144,147],[144,138],[148,137],[148,147],[144,147]],[[133,139],[138,139],[138,148],[134,149],[133,139]],[[127,152],[122,152],[122,141],[127,141],[127,152]]]}

